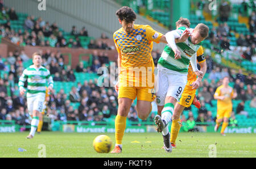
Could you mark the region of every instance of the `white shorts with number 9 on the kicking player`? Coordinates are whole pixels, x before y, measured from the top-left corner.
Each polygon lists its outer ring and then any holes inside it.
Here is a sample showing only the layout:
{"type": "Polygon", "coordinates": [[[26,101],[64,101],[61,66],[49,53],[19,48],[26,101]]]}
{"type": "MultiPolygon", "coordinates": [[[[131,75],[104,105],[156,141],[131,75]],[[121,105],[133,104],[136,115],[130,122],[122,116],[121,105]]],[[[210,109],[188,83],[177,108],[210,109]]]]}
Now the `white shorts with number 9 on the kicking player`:
{"type": "Polygon", "coordinates": [[[179,100],[187,84],[187,74],[159,69],[155,81],[156,104],[164,105],[166,96],[179,100]]]}

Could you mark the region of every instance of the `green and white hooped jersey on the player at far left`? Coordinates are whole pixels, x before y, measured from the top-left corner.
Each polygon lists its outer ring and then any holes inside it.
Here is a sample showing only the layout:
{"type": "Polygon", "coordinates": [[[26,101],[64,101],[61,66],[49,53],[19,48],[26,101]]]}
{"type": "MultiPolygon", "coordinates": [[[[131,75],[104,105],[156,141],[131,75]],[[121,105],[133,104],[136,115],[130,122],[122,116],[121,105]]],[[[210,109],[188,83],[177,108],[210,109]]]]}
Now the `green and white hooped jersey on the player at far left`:
{"type": "Polygon", "coordinates": [[[36,68],[34,65],[27,67],[19,78],[19,90],[24,87],[24,82],[27,80],[27,97],[37,94],[45,94],[46,86],[53,87],[53,79],[49,70],[40,66],[36,68]]]}

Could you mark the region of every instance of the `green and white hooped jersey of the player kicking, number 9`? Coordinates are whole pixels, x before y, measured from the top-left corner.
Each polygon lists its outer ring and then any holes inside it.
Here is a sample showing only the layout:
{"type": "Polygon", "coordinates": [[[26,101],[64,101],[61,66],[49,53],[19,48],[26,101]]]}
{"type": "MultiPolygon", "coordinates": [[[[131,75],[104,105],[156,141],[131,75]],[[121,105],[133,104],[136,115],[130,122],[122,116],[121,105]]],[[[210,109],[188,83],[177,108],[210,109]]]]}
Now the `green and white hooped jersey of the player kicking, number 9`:
{"type": "MultiPolygon", "coordinates": [[[[181,34],[185,31],[185,27],[180,27],[175,30],[175,34],[181,34]]],[[[193,29],[188,28],[189,32],[192,33],[193,29]]],[[[177,38],[177,37],[175,37],[177,38]]],[[[181,52],[181,59],[176,60],[174,57],[174,51],[170,47],[169,44],[166,45],[164,48],[161,57],[158,60],[158,67],[171,70],[173,73],[182,73],[187,74],[188,73],[188,66],[189,62],[193,59],[196,60],[196,52],[201,46],[201,43],[194,45],[191,43],[191,38],[189,37],[185,42],[183,43],[177,43],[177,48],[181,52]],[[175,71],[175,72],[174,72],[175,71]]]]}

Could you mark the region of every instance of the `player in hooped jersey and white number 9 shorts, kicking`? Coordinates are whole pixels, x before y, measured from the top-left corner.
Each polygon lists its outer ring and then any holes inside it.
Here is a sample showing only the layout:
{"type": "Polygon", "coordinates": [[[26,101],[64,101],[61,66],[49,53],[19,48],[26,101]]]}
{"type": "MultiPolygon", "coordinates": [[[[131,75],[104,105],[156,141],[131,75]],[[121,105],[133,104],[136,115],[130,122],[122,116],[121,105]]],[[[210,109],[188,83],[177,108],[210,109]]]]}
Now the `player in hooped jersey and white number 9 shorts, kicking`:
{"type": "MultiPolygon", "coordinates": [[[[195,74],[203,78],[203,72],[197,69],[196,52],[200,48],[200,42],[208,36],[209,28],[205,24],[198,24],[195,29],[180,27],[166,33],[168,44],[158,61],[158,75],[156,77],[156,104],[164,105],[162,117],[155,116],[158,132],[162,132],[164,138],[164,149],[172,151],[168,122],[171,121],[175,104],[183,93],[187,83],[189,62],[195,74]],[[185,31],[189,31],[190,37],[183,43],[175,43],[185,31]]],[[[196,83],[192,83],[195,87],[196,83]]]]}

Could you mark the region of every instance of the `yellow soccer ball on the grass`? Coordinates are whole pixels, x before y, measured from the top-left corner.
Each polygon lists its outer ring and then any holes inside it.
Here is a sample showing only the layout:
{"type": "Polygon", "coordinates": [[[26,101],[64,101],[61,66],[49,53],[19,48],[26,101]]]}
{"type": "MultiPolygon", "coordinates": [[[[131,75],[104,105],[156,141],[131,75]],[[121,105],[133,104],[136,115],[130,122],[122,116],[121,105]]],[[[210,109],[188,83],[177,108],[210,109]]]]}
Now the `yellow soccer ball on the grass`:
{"type": "Polygon", "coordinates": [[[112,140],[106,135],[97,136],[93,140],[93,147],[97,153],[109,153],[112,147],[112,140]]]}

